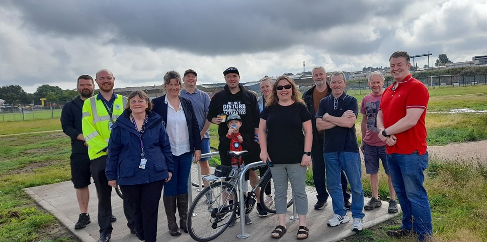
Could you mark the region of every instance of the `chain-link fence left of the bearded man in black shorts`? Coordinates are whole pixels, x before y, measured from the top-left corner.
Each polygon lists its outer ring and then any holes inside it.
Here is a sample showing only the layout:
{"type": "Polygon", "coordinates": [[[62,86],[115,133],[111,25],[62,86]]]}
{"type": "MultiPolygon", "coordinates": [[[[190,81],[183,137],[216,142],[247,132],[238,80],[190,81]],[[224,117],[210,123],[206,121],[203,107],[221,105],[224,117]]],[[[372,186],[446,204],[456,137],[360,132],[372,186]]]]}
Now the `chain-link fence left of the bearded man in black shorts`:
{"type": "Polygon", "coordinates": [[[61,109],[67,101],[8,104],[0,106],[0,122],[60,118],[61,109]]]}

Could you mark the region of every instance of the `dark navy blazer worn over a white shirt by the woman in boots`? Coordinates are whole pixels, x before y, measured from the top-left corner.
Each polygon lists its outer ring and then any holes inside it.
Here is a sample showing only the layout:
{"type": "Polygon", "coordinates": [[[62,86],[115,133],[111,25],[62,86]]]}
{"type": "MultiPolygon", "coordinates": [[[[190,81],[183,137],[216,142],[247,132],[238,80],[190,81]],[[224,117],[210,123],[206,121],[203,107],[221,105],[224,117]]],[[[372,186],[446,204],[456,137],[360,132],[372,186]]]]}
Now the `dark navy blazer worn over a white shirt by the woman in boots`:
{"type": "MultiPolygon", "coordinates": [[[[163,117],[164,127],[166,128],[168,123],[168,104],[164,101],[165,99],[166,95],[152,99],[152,104],[154,104],[152,111],[163,117]]],[[[196,119],[193,104],[191,104],[190,100],[181,96],[179,96],[179,101],[183,106],[184,116],[186,117],[186,123],[188,125],[191,152],[194,152],[195,150],[201,151],[200,128],[198,126],[198,120],[196,119]]]]}

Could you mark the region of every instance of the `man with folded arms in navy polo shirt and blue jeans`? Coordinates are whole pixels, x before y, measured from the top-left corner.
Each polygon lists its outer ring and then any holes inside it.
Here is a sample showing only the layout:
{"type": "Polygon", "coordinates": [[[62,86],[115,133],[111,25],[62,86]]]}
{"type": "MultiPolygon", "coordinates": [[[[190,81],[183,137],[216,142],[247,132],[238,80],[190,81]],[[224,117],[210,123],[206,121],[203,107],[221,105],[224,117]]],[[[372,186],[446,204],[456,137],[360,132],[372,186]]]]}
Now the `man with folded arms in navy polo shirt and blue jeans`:
{"type": "Polygon", "coordinates": [[[353,231],[363,228],[364,190],[362,187],[362,165],[360,161],[355,120],[358,115],[357,99],[345,93],[345,75],[335,71],[330,76],[332,95],[319,102],[316,112],[316,128],[324,131],[323,158],[327,169],[327,187],[332,197],[334,215],[328,226],[338,226],[350,221],[344,208],[340,170],[349,179],[352,191],[353,231]]]}

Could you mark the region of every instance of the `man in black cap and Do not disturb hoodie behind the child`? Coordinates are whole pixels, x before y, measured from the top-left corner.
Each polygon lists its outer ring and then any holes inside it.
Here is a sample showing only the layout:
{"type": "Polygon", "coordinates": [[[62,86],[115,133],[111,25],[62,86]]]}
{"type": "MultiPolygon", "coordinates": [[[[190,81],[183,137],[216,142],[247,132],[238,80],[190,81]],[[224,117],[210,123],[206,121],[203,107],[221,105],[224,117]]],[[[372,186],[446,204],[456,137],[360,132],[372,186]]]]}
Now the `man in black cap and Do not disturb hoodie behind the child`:
{"type": "MultiPolygon", "coordinates": [[[[215,93],[211,98],[210,106],[208,107],[208,121],[218,125],[220,158],[222,165],[229,166],[230,164],[223,164],[224,161],[228,161],[227,154],[221,152],[225,150],[224,142],[222,140],[228,133],[228,127],[225,124],[225,120],[220,114],[230,115],[238,114],[241,117],[242,126],[240,127],[240,133],[246,134],[249,137],[254,137],[256,142],[251,142],[254,151],[249,154],[249,158],[246,163],[260,161],[260,147],[257,137],[259,128],[260,113],[257,105],[257,97],[251,92],[247,91],[243,85],[240,84],[240,73],[238,69],[231,66],[223,71],[226,85],[223,90],[215,93]],[[220,125],[221,124],[221,125],[220,125]]],[[[228,148],[226,148],[228,149],[228,148]]],[[[250,172],[251,185],[254,186],[257,181],[257,173],[255,171],[250,172]]],[[[259,195],[259,189],[256,190],[259,195]]],[[[257,197],[259,202],[259,197],[257,197]]]]}

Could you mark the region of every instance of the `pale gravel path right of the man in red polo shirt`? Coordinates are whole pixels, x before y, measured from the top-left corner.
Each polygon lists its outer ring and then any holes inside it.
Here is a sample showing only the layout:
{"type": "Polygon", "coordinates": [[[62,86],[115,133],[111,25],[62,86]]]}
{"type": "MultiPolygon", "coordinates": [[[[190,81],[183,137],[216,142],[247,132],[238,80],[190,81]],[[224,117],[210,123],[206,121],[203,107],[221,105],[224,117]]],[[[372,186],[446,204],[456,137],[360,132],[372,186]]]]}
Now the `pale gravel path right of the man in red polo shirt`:
{"type": "Polygon", "coordinates": [[[487,160],[487,141],[465,142],[446,146],[429,146],[430,157],[445,160],[487,160]]]}

